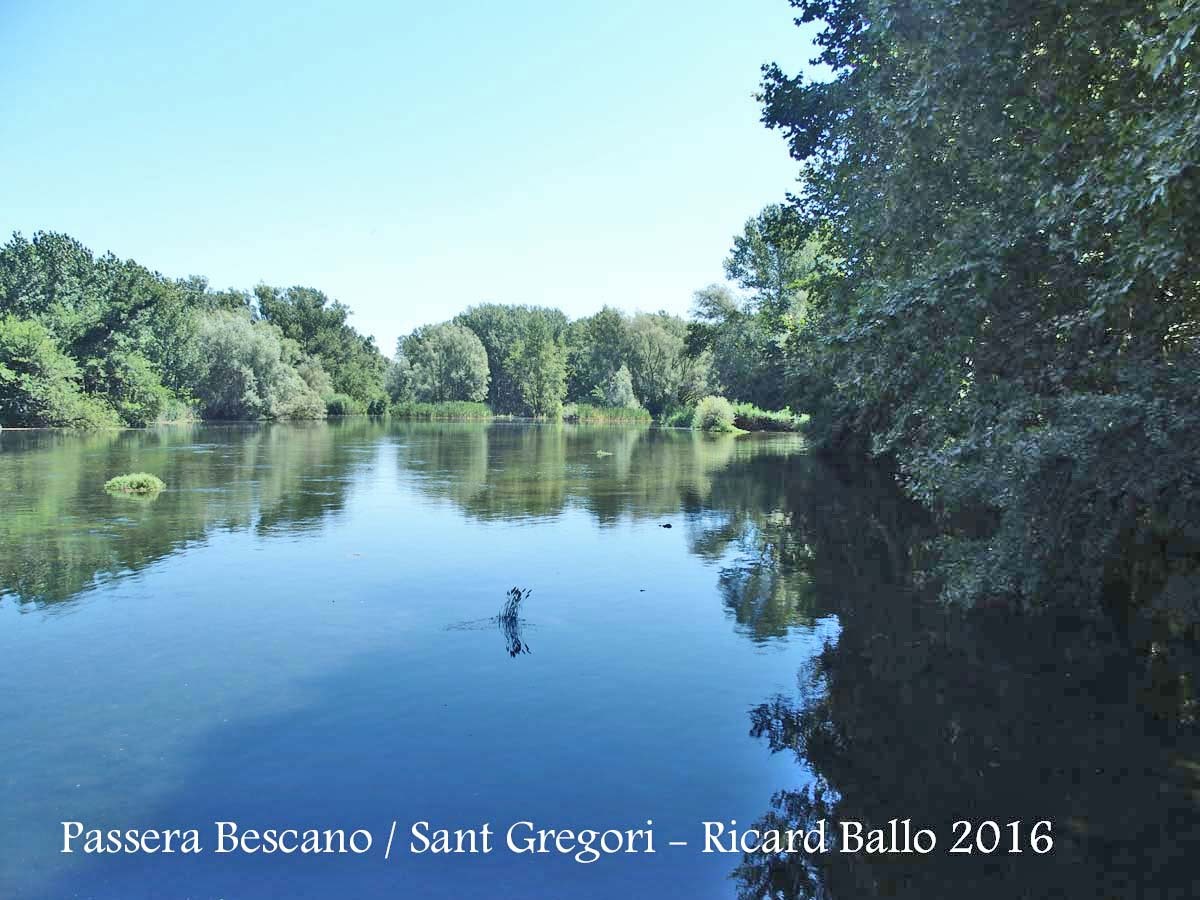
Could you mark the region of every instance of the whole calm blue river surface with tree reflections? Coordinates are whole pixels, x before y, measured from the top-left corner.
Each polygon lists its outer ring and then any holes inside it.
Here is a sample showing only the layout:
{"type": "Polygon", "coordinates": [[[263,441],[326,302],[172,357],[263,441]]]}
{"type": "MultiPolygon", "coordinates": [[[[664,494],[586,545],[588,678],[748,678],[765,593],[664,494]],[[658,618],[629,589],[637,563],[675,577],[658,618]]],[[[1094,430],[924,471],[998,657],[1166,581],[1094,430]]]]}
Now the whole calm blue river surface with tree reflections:
{"type": "Polygon", "coordinates": [[[898,586],[919,517],[796,437],[366,420],[2,432],[0,490],[0,896],[1196,887],[1190,661],[1105,623],[917,602],[898,586]],[[131,470],[169,490],[100,490],[131,470]],[[504,631],[492,617],[514,586],[533,593],[504,631]],[[816,866],[698,852],[706,820],[822,816],[942,835],[956,818],[1050,818],[1057,844],[816,866]],[[648,818],[654,856],[590,865],[410,856],[404,840],[416,820],[648,818]],[[206,848],[217,820],[367,828],[377,846],[64,856],[62,820],[198,827],[206,848]]]}

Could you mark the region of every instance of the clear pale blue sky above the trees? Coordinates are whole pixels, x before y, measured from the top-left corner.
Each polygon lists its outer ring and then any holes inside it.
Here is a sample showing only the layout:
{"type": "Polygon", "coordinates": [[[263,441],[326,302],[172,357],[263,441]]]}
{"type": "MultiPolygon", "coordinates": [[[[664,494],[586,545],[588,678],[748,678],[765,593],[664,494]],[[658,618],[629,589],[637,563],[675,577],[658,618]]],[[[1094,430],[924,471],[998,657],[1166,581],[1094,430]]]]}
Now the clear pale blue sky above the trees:
{"type": "Polygon", "coordinates": [[[0,0],[0,232],[311,284],[391,353],[474,302],[686,312],[792,190],[786,0],[0,0]],[[221,8],[224,7],[224,8],[221,8]]]}

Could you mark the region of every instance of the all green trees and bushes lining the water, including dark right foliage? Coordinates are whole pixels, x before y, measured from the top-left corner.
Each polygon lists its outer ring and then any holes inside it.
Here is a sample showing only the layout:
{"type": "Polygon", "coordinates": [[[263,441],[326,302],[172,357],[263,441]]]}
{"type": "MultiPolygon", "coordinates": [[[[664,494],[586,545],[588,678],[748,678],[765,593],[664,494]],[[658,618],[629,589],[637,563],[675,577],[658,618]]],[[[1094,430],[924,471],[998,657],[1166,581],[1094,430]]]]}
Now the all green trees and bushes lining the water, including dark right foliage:
{"type": "Polygon", "coordinates": [[[1200,5],[793,5],[828,78],[764,70],[804,178],[734,239],[740,293],[697,292],[686,320],[484,304],[389,361],[313,288],[214,290],[16,235],[0,424],[803,409],[815,446],[878,458],[931,512],[914,577],[944,599],[1195,640],[1200,5]]]}

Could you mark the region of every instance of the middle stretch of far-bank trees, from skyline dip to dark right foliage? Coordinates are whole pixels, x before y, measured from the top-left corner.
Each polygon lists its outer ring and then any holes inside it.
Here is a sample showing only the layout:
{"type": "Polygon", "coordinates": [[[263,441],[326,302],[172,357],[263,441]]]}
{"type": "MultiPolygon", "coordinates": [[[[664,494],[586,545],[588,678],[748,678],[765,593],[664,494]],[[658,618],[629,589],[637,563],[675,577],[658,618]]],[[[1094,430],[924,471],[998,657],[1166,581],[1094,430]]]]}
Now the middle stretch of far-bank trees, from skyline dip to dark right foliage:
{"type": "Polygon", "coordinates": [[[736,401],[727,413],[722,407],[726,426],[793,430],[800,419],[779,410],[802,396],[804,373],[788,342],[820,248],[788,206],[773,205],[746,223],[725,262],[742,292],[696,292],[689,319],[605,307],[572,322],[547,307],[474,306],[401,338],[389,395],[394,403],[486,402],[498,414],[539,418],[557,418],[564,404],[642,408],[685,426],[704,419],[701,400],[716,396],[736,401]]]}

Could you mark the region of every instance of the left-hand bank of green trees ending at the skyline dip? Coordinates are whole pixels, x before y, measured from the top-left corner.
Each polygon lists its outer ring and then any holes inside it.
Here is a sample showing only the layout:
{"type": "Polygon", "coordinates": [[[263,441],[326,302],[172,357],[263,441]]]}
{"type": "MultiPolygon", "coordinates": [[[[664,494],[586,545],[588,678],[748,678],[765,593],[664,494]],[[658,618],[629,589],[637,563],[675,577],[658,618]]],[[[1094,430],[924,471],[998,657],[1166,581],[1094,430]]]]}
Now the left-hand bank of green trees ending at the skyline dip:
{"type": "Polygon", "coordinates": [[[0,248],[0,425],[382,413],[388,360],[312,288],[212,290],[54,233],[0,248]]]}

